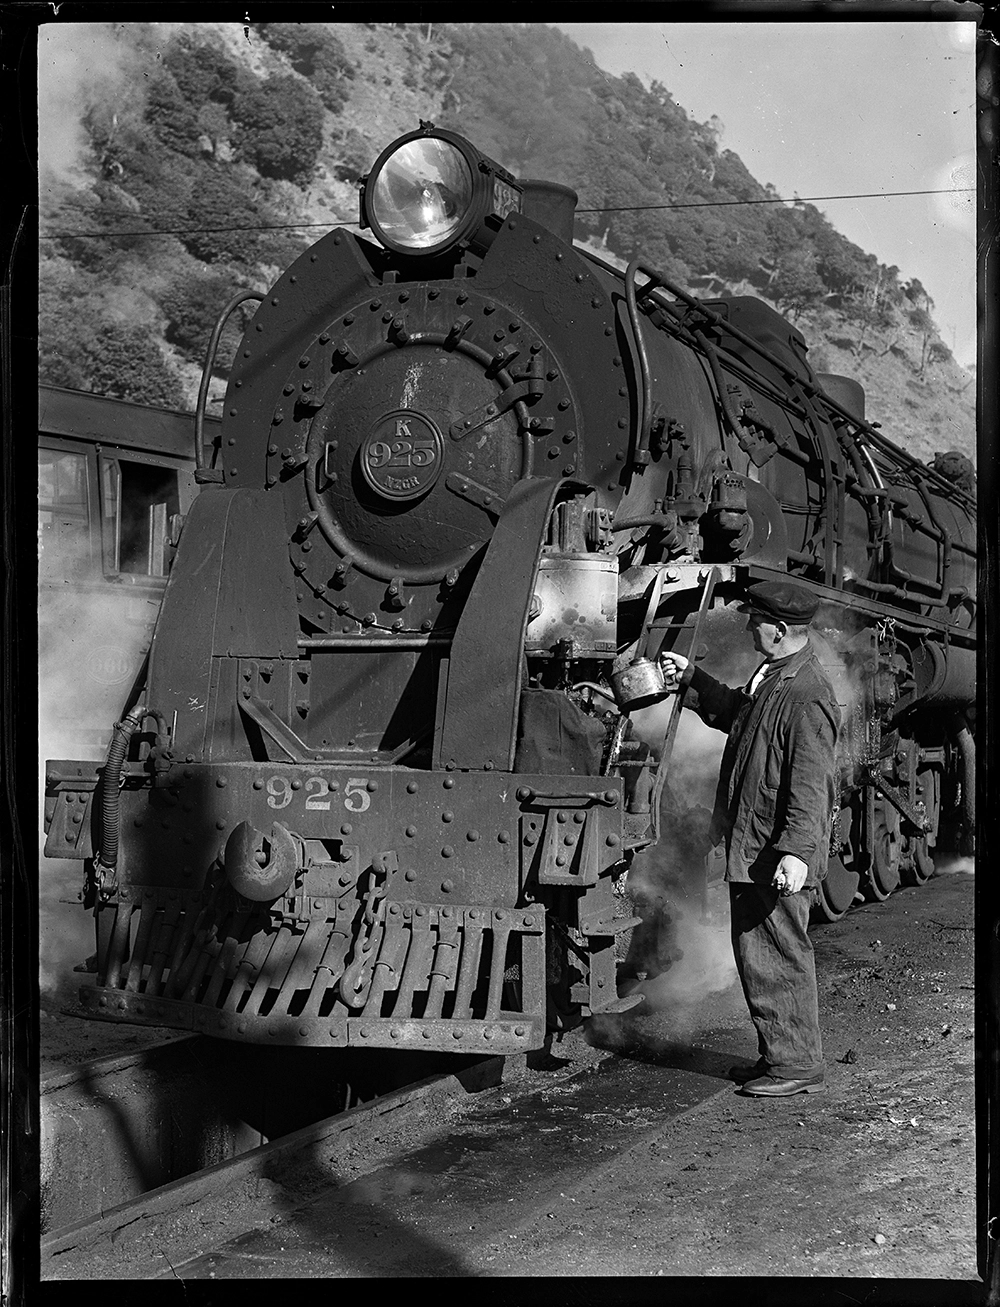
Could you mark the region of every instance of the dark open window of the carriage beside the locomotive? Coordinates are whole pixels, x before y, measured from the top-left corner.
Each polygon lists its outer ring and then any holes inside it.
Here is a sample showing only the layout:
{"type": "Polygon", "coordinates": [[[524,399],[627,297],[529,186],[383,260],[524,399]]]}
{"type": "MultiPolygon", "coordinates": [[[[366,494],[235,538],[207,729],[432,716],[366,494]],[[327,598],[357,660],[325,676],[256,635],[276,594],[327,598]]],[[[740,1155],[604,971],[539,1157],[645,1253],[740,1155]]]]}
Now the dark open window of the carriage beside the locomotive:
{"type": "Polygon", "coordinates": [[[167,523],[180,511],[173,468],[102,459],[105,571],[166,576],[167,523]]]}

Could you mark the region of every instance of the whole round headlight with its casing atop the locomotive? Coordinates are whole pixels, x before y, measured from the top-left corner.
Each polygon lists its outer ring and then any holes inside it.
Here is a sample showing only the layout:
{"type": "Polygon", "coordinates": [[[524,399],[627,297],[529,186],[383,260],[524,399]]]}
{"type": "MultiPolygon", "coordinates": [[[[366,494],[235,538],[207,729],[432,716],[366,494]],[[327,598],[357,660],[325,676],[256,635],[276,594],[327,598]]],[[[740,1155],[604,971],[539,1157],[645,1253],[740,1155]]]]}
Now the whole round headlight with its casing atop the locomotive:
{"type": "Polygon", "coordinates": [[[397,254],[439,254],[460,243],[484,251],[520,186],[455,132],[422,127],[393,141],[361,191],[361,225],[397,254]]]}

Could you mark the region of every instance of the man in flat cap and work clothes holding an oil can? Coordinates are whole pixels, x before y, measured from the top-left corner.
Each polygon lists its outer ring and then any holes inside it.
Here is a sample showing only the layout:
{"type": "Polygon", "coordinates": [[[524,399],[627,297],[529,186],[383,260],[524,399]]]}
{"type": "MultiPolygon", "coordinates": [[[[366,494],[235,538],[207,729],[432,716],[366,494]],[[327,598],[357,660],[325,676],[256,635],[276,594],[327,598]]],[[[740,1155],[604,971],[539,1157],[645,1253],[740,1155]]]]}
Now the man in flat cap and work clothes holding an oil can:
{"type": "Polygon", "coordinates": [[[841,714],[809,639],[817,606],[790,582],[749,589],[741,612],[763,663],[742,690],[660,654],[665,687],[688,686],[685,706],[729,737],[710,838],[725,846],[736,967],[757,1027],[759,1061],[742,1093],[759,1098],[824,1087],[807,927],[826,873],[841,714]]]}

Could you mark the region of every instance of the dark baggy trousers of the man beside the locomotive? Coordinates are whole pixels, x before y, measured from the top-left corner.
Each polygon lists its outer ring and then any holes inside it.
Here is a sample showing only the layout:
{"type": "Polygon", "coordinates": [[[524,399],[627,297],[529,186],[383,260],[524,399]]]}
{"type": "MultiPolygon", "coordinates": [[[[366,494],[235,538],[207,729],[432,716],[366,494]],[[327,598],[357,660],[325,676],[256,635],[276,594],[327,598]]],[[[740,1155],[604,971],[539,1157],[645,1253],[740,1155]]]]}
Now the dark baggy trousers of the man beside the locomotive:
{"type": "Polygon", "coordinates": [[[729,884],[736,970],[757,1047],[782,1078],[822,1074],[820,999],[807,927],[810,890],[787,898],[770,885],[729,884]]]}

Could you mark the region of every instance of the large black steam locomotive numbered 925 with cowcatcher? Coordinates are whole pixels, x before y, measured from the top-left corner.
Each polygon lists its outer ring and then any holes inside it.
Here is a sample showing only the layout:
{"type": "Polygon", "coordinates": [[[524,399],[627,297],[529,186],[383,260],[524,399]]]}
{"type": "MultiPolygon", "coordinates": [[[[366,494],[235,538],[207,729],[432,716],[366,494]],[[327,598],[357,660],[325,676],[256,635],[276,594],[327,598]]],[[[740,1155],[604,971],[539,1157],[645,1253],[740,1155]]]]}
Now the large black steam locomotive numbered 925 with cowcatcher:
{"type": "Polygon", "coordinates": [[[971,830],[971,495],[763,302],[575,248],[575,200],[421,124],[362,180],[375,240],[261,298],[145,685],[102,766],[48,763],[93,1016],[516,1052],[621,1010],[614,886],[680,766],[655,655],[722,668],[753,580],[821,600],[822,914],[971,830]]]}

